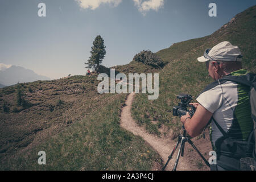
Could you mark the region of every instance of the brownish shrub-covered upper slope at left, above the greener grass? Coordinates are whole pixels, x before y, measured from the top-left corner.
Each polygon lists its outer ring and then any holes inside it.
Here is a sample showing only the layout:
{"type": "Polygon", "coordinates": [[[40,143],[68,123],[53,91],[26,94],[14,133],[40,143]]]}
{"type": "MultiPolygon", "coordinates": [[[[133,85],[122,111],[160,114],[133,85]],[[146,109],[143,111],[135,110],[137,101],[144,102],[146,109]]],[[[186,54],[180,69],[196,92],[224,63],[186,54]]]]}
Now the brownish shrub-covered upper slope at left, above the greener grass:
{"type": "Polygon", "coordinates": [[[41,139],[55,135],[67,127],[69,121],[80,121],[104,105],[105,100],[114,99],[97,93],[96,78],[73,76],[0,89],[0,158],[32,141],[36,144],[39,131],[44,131],[41,139]]]}

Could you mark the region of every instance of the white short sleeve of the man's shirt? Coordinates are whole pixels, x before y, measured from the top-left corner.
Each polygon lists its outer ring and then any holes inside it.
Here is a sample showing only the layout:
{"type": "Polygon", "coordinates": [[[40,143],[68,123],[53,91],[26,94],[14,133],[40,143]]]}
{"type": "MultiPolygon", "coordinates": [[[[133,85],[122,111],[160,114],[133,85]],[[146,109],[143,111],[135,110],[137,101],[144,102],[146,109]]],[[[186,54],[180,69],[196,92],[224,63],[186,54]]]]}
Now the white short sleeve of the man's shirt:
{"type": "Polygon", "coordinates": [[[222,90],[220,86],[216,86],[201,93],[196,100],[210,113],[214,113],[222,105],[222,90]]]}

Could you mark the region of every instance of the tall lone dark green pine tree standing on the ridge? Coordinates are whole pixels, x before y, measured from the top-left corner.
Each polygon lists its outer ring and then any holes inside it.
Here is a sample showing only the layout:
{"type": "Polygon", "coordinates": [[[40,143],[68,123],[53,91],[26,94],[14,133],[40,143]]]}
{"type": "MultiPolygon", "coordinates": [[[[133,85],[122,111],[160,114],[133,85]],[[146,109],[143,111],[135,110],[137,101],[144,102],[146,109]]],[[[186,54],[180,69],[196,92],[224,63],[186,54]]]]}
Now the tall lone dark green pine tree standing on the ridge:
{"type": "Polygon", "coordinates": [[[100,35],[96,36],[93,41],[92,51],[90,51],[91,56],[85,63],[87,67],[85,68],[93,68],[97,73],[99,73],[100,65],[102,63],[102,59],[104,59],[106,50],[106,46],[104,46],[104,40],[100,35]]]}

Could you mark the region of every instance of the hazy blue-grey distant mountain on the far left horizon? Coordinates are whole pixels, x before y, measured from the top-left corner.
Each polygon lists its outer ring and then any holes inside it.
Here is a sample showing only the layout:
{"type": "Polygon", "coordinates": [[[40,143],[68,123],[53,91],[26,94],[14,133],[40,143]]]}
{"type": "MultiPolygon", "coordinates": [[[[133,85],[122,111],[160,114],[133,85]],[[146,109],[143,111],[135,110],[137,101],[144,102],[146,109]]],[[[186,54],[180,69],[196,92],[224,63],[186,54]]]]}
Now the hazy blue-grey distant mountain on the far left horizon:
{"type": "Polygon", "coordinates": [[[30,69],[15,65],[0,64],[0,82],[1,86],[14,85],[18,82],[32,82],[36,80],[51,80],[46,76],[36,74],[30,69]]]}

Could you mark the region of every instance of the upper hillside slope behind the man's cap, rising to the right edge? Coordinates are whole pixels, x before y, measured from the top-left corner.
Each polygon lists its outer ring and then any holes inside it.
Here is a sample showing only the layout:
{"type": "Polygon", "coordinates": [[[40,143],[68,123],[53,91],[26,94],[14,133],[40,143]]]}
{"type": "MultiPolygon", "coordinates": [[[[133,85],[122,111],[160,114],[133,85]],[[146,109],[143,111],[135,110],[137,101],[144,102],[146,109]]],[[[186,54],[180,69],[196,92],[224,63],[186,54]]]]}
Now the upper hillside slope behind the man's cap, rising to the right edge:
{"type": "Polygon", "coordinates": [[[215,46],[222,41],[229,41],[240,47],[243,54],[243,66],[251,72],[256,72],[256,6],[237,14],[212,35],[175,43],[171,47],[156,52],[165,63],[176,59],[196,61],[206,48],[215,46]],[[190,57],[188,57],[190,56],[190,57]]]}

